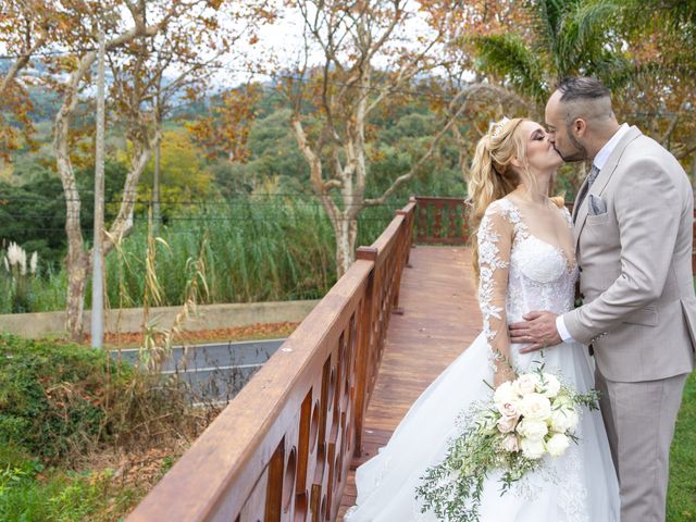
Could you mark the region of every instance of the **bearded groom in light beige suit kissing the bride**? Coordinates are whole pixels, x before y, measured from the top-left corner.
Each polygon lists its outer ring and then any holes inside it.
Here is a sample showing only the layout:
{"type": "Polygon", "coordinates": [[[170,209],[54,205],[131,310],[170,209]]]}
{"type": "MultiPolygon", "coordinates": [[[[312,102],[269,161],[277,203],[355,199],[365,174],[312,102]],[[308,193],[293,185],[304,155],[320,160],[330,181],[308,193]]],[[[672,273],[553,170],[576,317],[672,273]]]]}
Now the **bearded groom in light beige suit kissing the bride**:
{"type": "Polygon", "coordinates": [[[584,304],[531,312],[510,325],[532,351],[591,346],[596,386],[621,486],[623,522],[663,521],[669,451],[694,369],[694,195],[674,157],[619,125],[593,78],[560,83],[546,105],[549,139],[566,161],[592,160],[573,210],[584,304]]]}

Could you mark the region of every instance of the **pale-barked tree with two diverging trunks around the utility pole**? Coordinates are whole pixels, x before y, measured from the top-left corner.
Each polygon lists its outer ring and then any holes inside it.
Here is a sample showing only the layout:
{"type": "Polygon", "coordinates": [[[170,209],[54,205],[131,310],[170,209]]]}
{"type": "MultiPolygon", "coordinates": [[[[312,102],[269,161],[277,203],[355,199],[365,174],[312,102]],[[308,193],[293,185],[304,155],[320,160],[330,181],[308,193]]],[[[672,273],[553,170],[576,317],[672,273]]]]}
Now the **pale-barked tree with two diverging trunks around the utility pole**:
{"type": "MultiPolygon", "coordinates": [[[[123,125],[132,151],[121,206],[108,235],[120,238],[132,228],[138,182],[161,139],[161,121],[158,121],[161,112],[156,110],[153,101],[156,96],[162,95],[163,84],[158,78],[162,79],[167,66],[178,64],[181,73],[172,82],[173,91],[184,86],[186,78],[204,69],[209,62],[204,58],[207,53],[217,54],[226,50],[231,41],[228,30],[219,24],[219,18],[225,10],[238,12],[238,5],[222,0],[139,0],[137,3],[111,0],[71,7],[70,18],[79,21],[71,39],[72,52],[67,58],[51,63],[54,74],[49,79],[62,95],[62,104],[55,116],[53,150],[66,201],[66,330],[73,337],[79,337],[91,256],[79,227],[80,195],[71,158],[71,124],[80,104],[80,95],[90,85],[90,71],[97,57],[94,50],[97,34],[103,30],[107,35],[113,76],[111,110],[123,125]],[[152,42],[158,37],[161,40],[157,44],[167,51],[164,60],[153,58],[152,42]],[[55,73],[66,74],[67,80],[60,82],[55,73]]],[[[112,248],[113,243],[107,238],[104,254],[112,248]]]]}

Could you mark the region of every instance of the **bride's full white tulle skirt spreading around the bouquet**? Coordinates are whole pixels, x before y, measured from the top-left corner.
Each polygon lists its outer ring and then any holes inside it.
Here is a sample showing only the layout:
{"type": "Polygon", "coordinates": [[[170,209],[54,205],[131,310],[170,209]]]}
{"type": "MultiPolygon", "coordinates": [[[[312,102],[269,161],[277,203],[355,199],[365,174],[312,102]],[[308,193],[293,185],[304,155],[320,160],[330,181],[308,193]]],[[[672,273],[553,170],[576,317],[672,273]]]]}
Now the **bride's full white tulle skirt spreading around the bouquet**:
{"type": "MultiPolygon", "coordinates": [[[[544,352],[518,355],[524,372],[543,361],[546,371],[566,385],[586,391],[594,386],[586,347],[559,345],[544,352]]],[[[490,397],[493,382],[486,340],[480,335],[413,403],[380,452],[358,468],[358,498],[347,522],[435,522],[421,512],[415,496],[420,477],[446,456],[448,442],[460,433],[457,419],[474,401],[490,397]]],[[[607,435],[598,411],[584,410],[576,434],[579,444],[556,459],[544,457],[537,472],[527,474],[505,495],[499,475],[486,478],[480,509],[481,522],[618,522],[619,485],[607,435]]]]}

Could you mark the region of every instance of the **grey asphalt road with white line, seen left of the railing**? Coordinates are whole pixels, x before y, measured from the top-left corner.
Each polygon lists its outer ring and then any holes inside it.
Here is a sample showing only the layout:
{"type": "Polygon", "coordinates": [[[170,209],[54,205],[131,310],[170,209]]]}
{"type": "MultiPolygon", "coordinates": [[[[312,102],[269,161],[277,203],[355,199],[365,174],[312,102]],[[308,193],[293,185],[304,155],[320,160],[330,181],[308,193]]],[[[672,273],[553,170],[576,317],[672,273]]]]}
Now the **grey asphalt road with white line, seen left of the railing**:
{"type": "MultiPolygon", "coordinates": [[[[246,340],[209,345],[177,346],[164,361],[162,374],[178,376],[190,389],[196,403],[232,399],[285,339],[246,340]]],[[[121,350],[122,360],[136,364],[139,349],[121,350]]],[[[119,351],[112,351],[116,359],[119,351]]]]}

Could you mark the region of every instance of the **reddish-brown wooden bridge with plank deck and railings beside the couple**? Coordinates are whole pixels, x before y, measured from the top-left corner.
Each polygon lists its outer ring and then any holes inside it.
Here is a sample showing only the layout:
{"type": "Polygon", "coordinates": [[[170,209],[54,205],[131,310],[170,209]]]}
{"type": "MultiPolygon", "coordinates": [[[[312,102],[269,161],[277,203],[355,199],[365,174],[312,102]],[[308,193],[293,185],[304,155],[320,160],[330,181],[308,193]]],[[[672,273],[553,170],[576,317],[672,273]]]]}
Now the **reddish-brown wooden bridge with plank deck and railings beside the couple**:
{"type": "Polygon", "coordinates": [[[128,521],[343,519],[357,465],[481,328],[463,200],[396,214],[128,521]]]}

